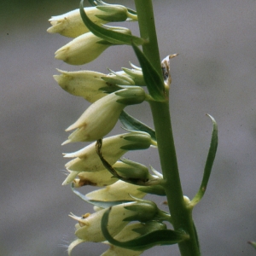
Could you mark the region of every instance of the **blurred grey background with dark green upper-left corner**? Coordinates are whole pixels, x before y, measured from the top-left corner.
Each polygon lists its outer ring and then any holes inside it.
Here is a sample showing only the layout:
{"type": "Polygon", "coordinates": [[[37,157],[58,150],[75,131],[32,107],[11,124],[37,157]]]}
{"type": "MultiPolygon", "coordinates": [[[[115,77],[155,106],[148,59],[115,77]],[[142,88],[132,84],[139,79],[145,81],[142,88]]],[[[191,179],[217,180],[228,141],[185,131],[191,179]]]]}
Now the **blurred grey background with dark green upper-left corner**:
{"type": "MultiPolygon", "coordinates": [[[[133,1],[109,1],[134,8],[133,1]]],[[[207,193],[195,208],[202,255],[256,255],[256,2],[255,0],[156,1],[160,55],[172,59],[171,108],[183,191],[195,195],[207,157],[212,124],[219,146],[207,193]]],[[[88,5],[88,3],[86,3],[88,5]]],[[[86,5],[85,4],[85,5],[86,5]]],[[[79,0],[2,0],[0,3],[0,254],[67,255],[75,236],[73,212],[92,208],[61,186],[66,160],[84,144],[61,147],[64,131],[88,103],[68,95],[52,78],[57,71],[108,73],[137,64],[128,46],[107,49],[96,61],[71,67],[54,58],[71,39],[46,32],[51,15],[77,9],[79,0]]],[[[121,25],[123,26],[123,25],[121,25]]],[[[136,23],[130,25],[138,34],[136,23]]],[[[127,111],[152,125],[147,104],[127,111]]],[[[120,124],[115,131],[120,130],[120,124]]],[[[127,154],[160,170],[157,152],[127,154]]],[[[85,188],[83,191],[90,191],[85,188]]],[[[165,198],[153,198],[162,205],[165,198]]],[[[167,209],[166,209],[167,210],[167,209]]],[[[100,255],[107,246],[84,243],[73,255],[100,255]]],[[[177,246],[143,255],[178,255],[177,246]]]]}

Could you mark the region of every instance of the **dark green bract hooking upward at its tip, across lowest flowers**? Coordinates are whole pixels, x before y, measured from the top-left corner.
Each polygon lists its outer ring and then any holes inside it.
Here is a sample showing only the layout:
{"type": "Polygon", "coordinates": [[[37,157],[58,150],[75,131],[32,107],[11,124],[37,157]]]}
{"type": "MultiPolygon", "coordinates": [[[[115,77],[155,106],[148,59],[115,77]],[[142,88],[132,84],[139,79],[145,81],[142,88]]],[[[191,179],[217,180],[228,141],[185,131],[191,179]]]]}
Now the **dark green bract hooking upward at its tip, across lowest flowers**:
{"type": "Polygon", "coordinates": [[[102,216],[102,234],[111,244],[134,251],[145,251],[154,246],[172,245],[188,239],[188,235],[174,230],[155,230],[130,241],[117,241],[108,232],[108,216],[111,208],[102,216]]]}

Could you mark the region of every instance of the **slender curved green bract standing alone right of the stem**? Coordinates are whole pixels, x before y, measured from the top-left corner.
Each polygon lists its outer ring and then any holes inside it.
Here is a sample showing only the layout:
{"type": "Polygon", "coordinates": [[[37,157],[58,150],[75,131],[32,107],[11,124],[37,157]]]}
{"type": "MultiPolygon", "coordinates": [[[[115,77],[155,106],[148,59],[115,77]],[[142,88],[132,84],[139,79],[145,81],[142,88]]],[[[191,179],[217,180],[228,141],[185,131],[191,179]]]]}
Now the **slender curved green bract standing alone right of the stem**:
{"type": "Polygon", "coordinates": [[[201,198],[203,197],[203,195],[205,195],[205,192],[207,190],[207,184],[212,172],[212,166],[215,159],[216,151],[218,148],[218,125],[215,119],[210,114],[207,114],[207,116],[210,119],[212,119],[212,139],[211,139],[211,144],[210,144],[210,148],[207,155],[207,162],[204,169],[204,174],[201,181],[200,189],[198,190],[193,200],[190,201],[189,207],[195,207],[195,205],[199,201],[201,201],[201,198]]]}

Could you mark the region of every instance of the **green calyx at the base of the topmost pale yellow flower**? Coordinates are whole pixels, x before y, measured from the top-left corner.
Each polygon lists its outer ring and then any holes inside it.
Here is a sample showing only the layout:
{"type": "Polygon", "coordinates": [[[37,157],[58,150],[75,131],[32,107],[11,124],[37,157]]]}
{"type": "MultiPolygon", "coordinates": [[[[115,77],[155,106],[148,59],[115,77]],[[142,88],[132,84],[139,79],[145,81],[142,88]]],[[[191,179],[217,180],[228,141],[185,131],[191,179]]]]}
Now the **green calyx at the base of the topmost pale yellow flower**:
{"type": "Polygon", "coordinates": [[[99,5],[96,6],[96,8],[102,10],[103,12],[106,12],[105,15],[96,15],[96,17],[101,20],[114,22],[125,21],[127,19],[127,9],[123,5],[99,5]]]}

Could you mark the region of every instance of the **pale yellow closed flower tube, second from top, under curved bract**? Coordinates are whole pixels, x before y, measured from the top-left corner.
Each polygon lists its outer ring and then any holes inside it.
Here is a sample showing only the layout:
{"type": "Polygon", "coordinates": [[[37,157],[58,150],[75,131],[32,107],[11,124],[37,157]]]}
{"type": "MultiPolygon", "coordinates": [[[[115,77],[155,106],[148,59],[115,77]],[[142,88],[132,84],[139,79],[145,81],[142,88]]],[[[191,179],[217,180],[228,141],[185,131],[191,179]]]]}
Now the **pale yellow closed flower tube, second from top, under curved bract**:
{"type": "Polygon", "coordinates": [[[83,65],[94,61],[113,44],[96,37],[92,32],[84,33],[55,52],[55,58],[71,65],[83,65]]]}

